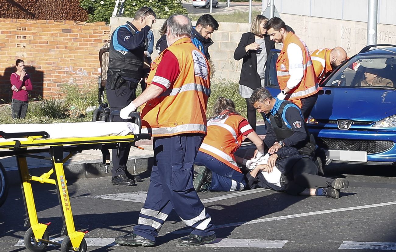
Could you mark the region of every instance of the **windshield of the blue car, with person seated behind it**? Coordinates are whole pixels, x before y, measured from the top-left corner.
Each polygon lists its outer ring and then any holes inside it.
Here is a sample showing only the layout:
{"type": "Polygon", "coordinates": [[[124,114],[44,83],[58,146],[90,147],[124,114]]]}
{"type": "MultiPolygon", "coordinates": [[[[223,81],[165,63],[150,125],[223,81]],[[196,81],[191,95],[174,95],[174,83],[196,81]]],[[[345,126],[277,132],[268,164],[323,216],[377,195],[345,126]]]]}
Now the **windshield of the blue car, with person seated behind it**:
{"type": "Polygon", "coordinates": [[[396,60],[392,55],[361,55],[343,65],[326,87],[396,89],[396,60]]]}

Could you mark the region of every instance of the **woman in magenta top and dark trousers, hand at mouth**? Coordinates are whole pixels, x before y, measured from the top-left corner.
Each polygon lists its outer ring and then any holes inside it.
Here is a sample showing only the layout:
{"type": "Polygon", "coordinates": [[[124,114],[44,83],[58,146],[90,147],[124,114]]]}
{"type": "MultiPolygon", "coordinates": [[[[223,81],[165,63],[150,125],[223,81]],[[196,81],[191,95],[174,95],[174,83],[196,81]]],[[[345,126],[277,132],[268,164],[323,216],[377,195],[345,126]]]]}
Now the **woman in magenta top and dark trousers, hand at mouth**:
{"type": "Polygon", "coordinates": [[[11,74],[11,113],[12,118],[25,118],[29,100],[29,91],[33,89],[29,74],[25,71],[25,62],[17,59],[15,62],[17,71],[11,74]]]}

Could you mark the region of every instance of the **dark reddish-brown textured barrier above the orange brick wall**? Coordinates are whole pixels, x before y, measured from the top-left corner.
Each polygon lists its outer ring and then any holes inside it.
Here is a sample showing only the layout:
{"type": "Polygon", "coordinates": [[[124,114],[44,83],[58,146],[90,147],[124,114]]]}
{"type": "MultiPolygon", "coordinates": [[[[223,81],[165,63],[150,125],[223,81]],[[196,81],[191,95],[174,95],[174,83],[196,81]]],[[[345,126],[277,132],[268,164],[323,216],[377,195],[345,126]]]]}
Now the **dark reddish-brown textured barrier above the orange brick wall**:
{"type": "Polygon", "coordinates": [[[88,12],[80,0],[2,0],[0,18],[86,21],[88,12]]]}

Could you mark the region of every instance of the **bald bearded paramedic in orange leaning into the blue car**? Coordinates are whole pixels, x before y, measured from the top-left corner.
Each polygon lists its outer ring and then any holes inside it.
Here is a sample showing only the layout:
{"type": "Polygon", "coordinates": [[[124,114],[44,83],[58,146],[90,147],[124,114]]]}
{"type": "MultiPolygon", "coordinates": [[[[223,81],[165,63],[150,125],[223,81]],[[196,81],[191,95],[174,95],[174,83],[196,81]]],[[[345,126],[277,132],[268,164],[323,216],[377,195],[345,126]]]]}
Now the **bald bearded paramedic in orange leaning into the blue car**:
{"type": "Polygon", "coordinates": [[[318,83],[321,84],[323,80],[331,74],[339,65],[344,63],[346,57],[345,50],[342,47],[320,48],[310,52],[312,65],[314,66],[315,75],[318,83]]]}

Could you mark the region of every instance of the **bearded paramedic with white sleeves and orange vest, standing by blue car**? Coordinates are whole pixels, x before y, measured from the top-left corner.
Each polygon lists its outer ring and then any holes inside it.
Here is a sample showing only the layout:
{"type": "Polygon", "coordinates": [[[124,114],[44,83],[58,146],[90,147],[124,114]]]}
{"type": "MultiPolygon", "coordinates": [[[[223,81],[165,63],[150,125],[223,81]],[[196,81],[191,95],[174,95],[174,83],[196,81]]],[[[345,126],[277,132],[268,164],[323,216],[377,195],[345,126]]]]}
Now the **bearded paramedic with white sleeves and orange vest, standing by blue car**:
{"type": "Polygon", "coordinates": [[[295,103],[307,119],[318,99],[318,81],[307,45],[293,32],[288,32],[284,21],[279,17],[271,18],[265,29],[272,41],[283,43],[276,61],[276,74],[281,89],[278,99],[295,103]]]}

